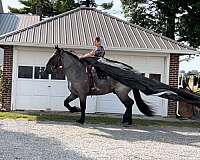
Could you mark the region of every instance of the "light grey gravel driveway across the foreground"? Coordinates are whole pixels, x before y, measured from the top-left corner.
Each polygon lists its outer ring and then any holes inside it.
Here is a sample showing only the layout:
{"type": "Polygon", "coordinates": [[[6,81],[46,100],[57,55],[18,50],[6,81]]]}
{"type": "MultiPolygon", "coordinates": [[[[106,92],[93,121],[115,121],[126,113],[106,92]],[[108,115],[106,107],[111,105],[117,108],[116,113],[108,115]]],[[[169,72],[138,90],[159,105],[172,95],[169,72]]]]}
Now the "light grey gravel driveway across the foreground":
{"type": "Polygon", "coordinates": [[[200,129],[0,121],[2,160],[200,160],[200,129]]]}

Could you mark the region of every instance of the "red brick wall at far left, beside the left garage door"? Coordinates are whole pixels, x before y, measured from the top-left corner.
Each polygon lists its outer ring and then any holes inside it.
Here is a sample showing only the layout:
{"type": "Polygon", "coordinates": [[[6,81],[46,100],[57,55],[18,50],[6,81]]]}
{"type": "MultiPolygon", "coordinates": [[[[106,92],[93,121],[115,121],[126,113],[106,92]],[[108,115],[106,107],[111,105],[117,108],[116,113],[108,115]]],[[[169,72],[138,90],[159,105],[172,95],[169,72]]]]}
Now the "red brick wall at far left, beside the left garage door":
{"type": "Polygon", "coordinates": [[[0,46],[4,49],[3,75],[8,82],[8,90],[2,94],[2,109],[11,110],[11,85],[12,85],[12,66],[13,66],[13,47],[0,46]]]}

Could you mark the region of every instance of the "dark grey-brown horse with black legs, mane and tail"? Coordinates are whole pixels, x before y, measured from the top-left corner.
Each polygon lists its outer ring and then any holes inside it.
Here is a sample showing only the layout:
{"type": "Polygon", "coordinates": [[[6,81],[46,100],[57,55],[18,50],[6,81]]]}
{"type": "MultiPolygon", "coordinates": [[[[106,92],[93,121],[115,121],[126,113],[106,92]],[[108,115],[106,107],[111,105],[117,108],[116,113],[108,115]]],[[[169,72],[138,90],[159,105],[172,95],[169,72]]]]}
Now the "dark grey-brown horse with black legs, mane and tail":
{"type": "MultiPolygon", "coordinates": [[[[132,68],[127,65],[121,65],[128,70],[132,70],[132,68]]],[[[86,72],[86,66],[87,64],[80,60],[76,55],[57,47],[56,52],[49,59],[45,69],[45,72],[50,74],[60,67],[63,68],[64,73],[67,76],[68,88],[71,91],[71,94],[64,101],[64,106],[71,112],[81,111],[81,117],[77,122],[83,124],[85,121],[87,96],[114,93],[126,107],[122,123],[132,124],[132,106],[134,101],[128,95],[131,90],[133,91],[139,110],[147,116],[153,115],[152,109],[144,103],[138,89],[131,89],[111,77],[99,79],[97,74],[94,73],[95,85],[99,90],[91,91],[89,83],[90,79],[86,72]],[[79,98],[80,100],[80,109],[69,105],[69,103],[76,98],[79,98]]]]}

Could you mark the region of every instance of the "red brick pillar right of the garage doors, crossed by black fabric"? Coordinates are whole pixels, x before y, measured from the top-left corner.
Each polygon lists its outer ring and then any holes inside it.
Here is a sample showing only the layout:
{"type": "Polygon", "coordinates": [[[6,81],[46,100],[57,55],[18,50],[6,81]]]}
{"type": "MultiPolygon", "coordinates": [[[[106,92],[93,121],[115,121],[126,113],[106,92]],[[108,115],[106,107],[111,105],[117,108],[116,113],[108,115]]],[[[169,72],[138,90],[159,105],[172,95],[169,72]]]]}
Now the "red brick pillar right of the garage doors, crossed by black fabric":
{"type": "MultiPolygon", "coordinates": [[[[179,55],[170,55],[170,67],[169,67],[169,85],[173,87],[178,87],[178,74],[179,73],[179,55]]],[[[169,100],[168,101],[168,116],[176,115],[177,102],[169,100]]]]}

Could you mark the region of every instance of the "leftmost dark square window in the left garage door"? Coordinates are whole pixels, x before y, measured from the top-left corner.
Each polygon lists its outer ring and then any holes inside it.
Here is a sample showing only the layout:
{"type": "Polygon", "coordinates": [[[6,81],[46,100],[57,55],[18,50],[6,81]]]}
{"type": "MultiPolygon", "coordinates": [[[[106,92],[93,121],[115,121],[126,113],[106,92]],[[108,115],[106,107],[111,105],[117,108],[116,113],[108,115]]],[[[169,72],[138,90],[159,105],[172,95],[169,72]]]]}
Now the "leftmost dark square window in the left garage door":
{"type": "Polygon", "coordinates": [[[18,67],[18,78],[33,78],[33,67],[32,66],[19,66],[18,67]]]}

